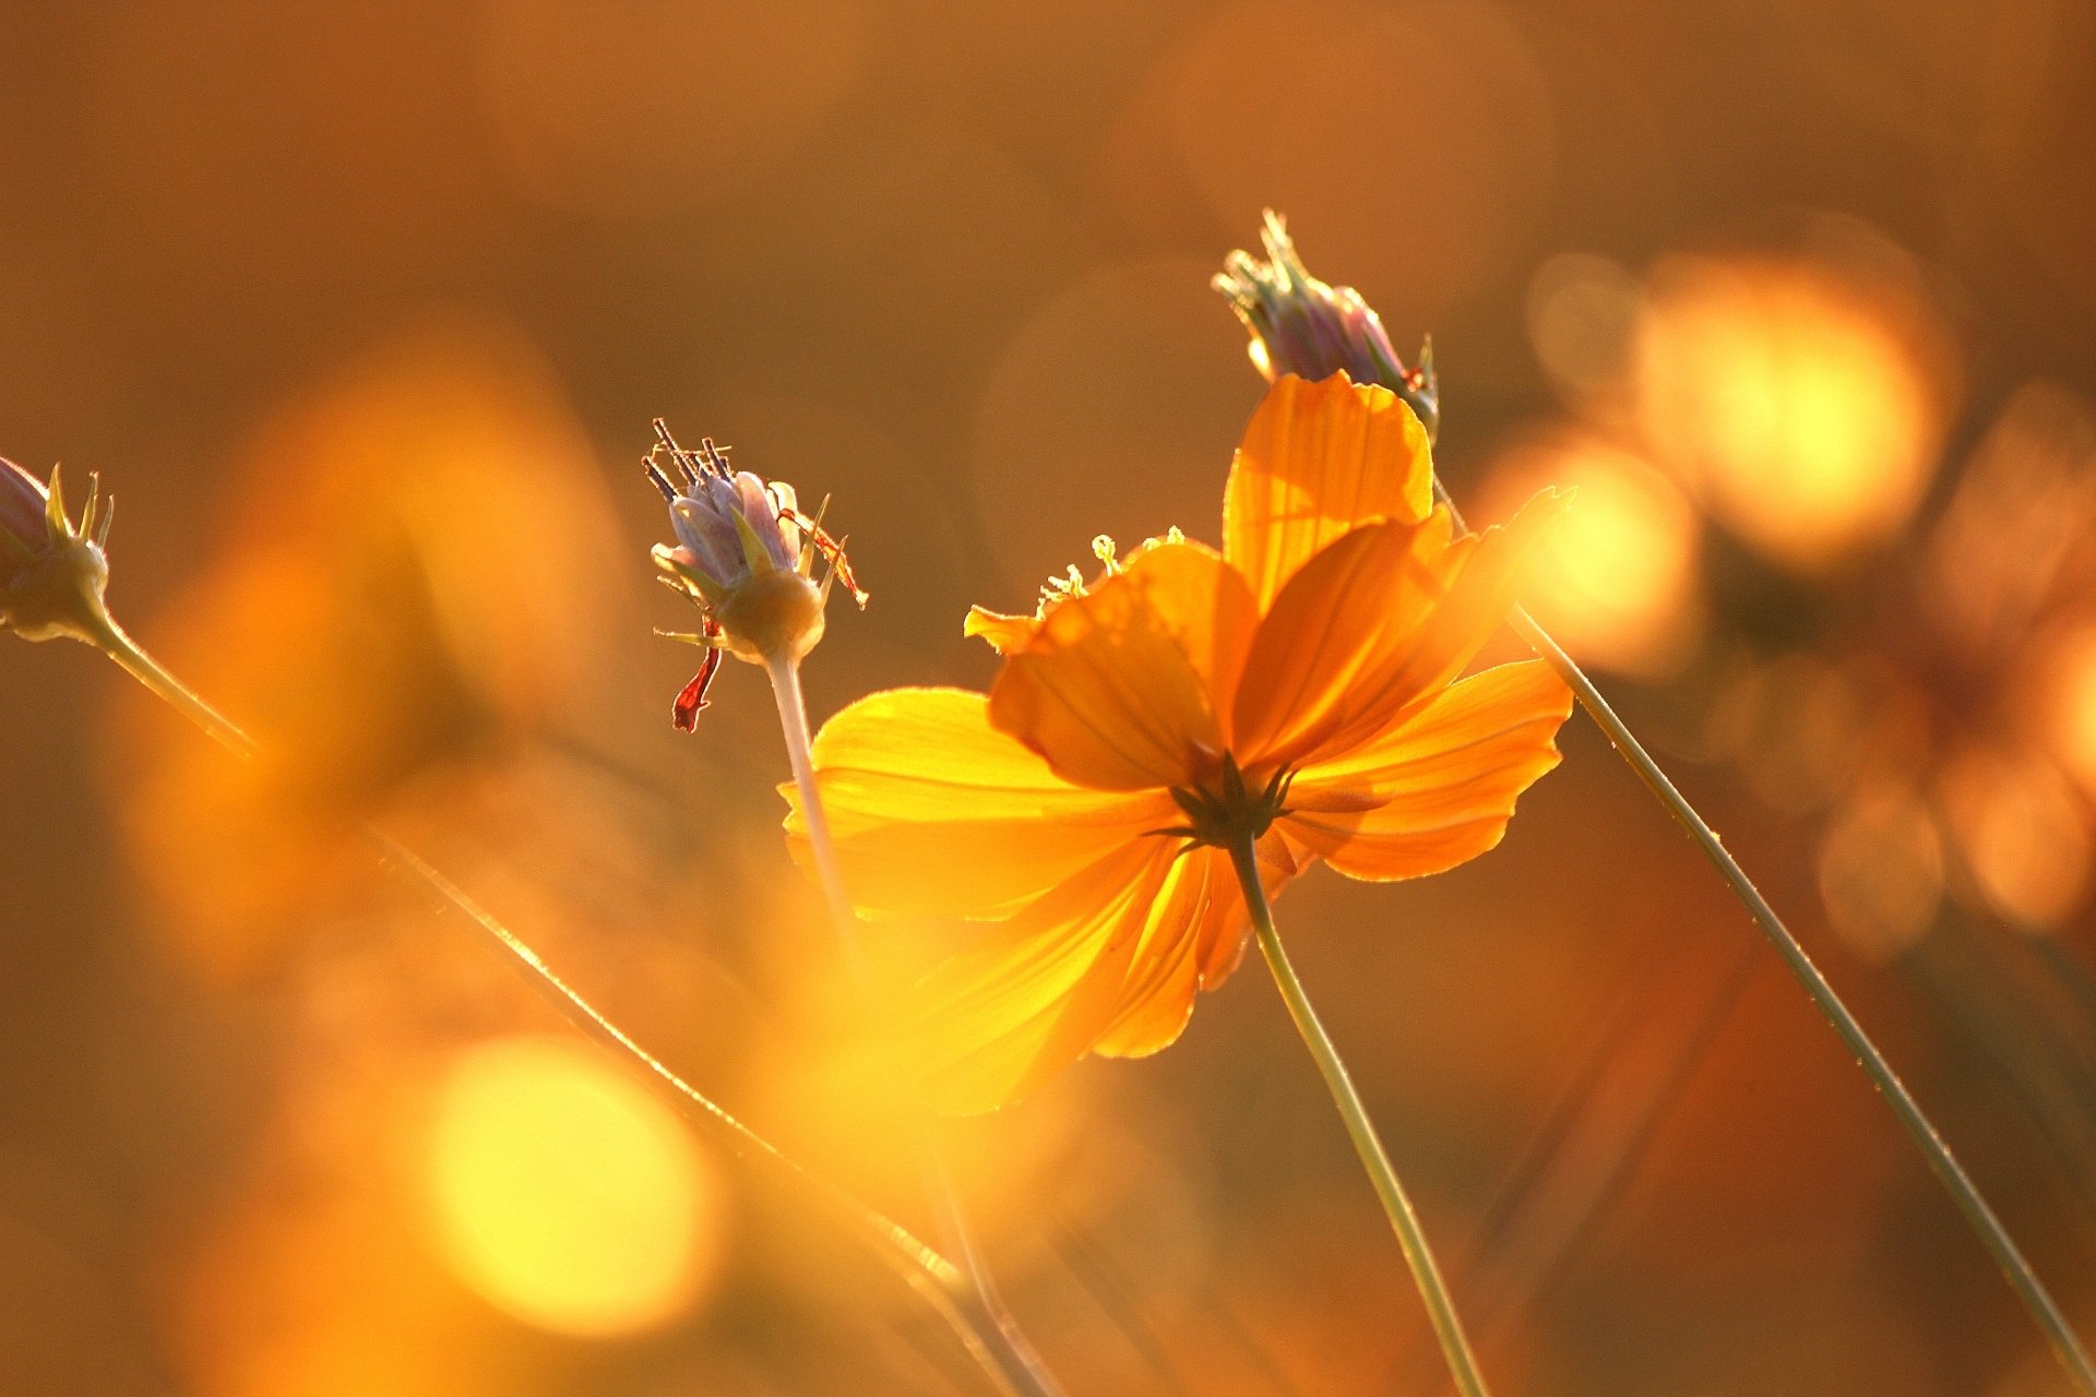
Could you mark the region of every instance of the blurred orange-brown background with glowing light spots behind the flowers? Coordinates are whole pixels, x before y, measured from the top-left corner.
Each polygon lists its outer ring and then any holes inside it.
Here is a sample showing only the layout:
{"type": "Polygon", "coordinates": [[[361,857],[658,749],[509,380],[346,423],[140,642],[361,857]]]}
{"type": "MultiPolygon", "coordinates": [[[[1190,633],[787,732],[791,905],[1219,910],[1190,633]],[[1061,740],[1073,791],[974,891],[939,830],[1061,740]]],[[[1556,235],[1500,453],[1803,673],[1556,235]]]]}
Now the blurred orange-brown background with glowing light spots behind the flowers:
{"type": "MultiPolygon", "coordinates": [[[[0,643],[0,1391],[981,1391],[335,831],[929,1229],[761,679],[669,727],[648,423],[834,494],[817,718],[983,685],[968,603],[1218,534],[1266,205],[1434,337],[1473,513],[1580,488],[1536,612],[2096,1332],[2096,8],[17,2],[0,109],[0,452],[115,486],[117,614],[268,752],[0,643]]],[[[1497,1391],[2067,1391],[1564,746],[1490,857],[1279,909],[1497,1391]]],[[[954,1152],[1073,1395],[1444,1382],[1256,972],[954,1152]]]]}

